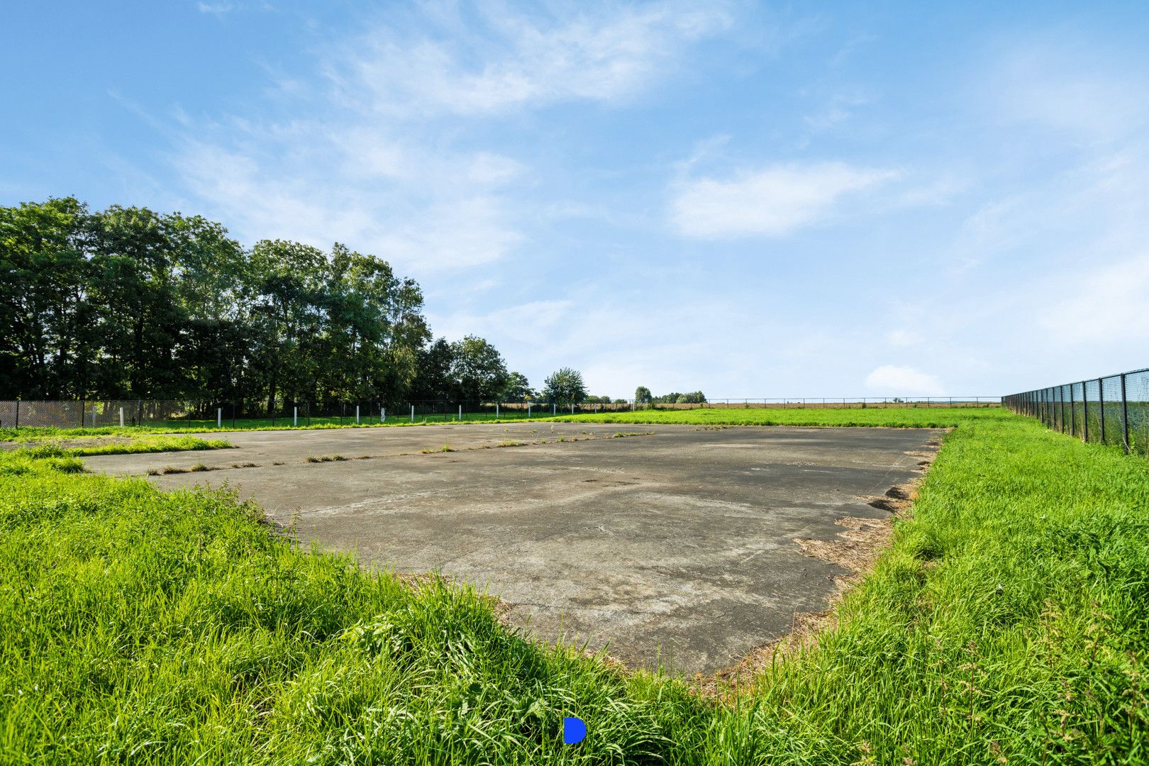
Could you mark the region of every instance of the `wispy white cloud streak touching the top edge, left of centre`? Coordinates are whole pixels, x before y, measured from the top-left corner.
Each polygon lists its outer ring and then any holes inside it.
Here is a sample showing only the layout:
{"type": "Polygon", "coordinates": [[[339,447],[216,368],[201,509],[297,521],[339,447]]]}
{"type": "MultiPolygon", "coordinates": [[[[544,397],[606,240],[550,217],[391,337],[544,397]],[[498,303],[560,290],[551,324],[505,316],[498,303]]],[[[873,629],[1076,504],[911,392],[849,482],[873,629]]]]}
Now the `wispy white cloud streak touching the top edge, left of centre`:
{"type": "Polygon", "coordinates": [[[714,6],[576,7],[545,15],[494,3],[465,21],[440,8],[422,34],[376,26],[347,46],[355,54],[334,56],[327,73],[344,102],[399,116],[612,100],[664,77],[687,44],[732,23],[714,6]]]}

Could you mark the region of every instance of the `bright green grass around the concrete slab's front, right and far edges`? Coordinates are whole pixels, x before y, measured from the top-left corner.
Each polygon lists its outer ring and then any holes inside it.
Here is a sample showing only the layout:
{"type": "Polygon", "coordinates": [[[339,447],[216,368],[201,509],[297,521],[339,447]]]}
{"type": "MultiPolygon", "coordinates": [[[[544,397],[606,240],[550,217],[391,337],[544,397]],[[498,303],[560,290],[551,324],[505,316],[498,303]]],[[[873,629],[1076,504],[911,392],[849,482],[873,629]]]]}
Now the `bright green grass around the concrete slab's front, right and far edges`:
{"type": "Polygon", "coordinates": [[[0,455],[0,763],[1149,760],[1144,461],[1001,409],[576,419],[956,428],[835,627],[720,699],[300,550],[224,494],[0,455]]]}

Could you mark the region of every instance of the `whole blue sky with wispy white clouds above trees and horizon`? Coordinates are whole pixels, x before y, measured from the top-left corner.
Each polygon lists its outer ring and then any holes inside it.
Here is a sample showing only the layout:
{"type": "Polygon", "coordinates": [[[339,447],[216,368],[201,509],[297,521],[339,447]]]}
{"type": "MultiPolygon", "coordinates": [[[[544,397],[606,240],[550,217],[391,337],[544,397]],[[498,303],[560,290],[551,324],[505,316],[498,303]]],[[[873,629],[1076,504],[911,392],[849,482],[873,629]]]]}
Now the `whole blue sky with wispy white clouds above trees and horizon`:
{"type": "Polygon", "coordinates": [[[595,394],[1149,364],[1149,6],[9,5],[0,203],[340,241],[595,394]]]}

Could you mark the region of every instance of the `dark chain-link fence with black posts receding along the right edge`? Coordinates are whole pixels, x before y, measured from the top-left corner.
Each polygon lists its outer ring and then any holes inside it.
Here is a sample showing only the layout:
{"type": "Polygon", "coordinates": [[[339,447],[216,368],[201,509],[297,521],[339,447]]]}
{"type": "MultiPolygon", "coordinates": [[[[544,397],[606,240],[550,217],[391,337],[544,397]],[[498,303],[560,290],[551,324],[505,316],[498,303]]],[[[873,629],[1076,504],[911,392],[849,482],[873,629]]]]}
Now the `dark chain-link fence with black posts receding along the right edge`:
{"type": "Polygon", "coordinates": [[[1002,404],[1082,441],[1149,454],[1149,370],[1012,394],[1002,404]]]}

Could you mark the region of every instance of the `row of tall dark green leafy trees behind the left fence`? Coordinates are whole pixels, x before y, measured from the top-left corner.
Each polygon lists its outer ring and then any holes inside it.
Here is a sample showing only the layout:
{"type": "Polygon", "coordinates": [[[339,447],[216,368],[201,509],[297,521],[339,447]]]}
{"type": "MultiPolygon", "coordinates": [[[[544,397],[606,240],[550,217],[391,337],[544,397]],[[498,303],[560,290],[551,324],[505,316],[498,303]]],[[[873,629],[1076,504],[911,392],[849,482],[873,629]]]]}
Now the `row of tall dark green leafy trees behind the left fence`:
{"type": "Polygon", "coordinates": [[[486,340],[434,339],[418,284],[373,255],[75,198],[0,207],[0,399],[589,399],[577,371],[535,394],[486,340]]]}

